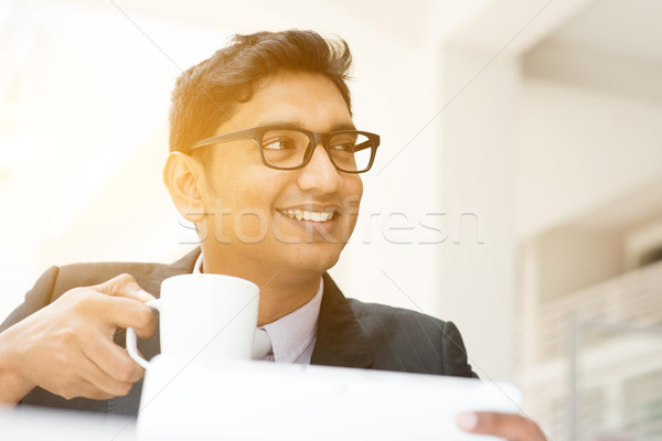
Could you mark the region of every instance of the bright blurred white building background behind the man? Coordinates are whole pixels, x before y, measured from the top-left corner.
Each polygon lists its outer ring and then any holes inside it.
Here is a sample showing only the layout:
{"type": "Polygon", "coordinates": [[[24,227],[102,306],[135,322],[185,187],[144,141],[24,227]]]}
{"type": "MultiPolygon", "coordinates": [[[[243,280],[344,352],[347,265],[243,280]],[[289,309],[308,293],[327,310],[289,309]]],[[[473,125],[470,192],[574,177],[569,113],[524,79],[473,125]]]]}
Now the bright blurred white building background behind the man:
{"type": "Polygon", "coordinates": [[[0,1],[1,315],[51,265],[195,246],[160,182],[174,79],[287,28],[349,42],[383,140],[345,294],[456,322],[554,440],[658,435],[662,397],[632,392],[662,384],[655,0],[0,1]]]}

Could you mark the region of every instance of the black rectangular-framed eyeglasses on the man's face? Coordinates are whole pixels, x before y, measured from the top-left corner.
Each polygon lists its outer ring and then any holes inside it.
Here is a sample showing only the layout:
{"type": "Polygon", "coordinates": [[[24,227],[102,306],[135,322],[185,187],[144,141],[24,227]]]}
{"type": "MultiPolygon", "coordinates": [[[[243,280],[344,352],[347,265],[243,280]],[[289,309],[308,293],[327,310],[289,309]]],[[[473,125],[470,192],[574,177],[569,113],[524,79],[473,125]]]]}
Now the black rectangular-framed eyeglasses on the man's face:
{"type": "Polygon", "coordinates": [[[314,148],[321,142],[331,163],[344,173],[370,170],[380,146],[380,136],[359,130],[339,130],[331,133],[285,126],[264,126],[220,135],[197,141],[192,150],[221,142],[253,139],[263,163],[277,170],[297,170],[306,166],[314,148]]]}

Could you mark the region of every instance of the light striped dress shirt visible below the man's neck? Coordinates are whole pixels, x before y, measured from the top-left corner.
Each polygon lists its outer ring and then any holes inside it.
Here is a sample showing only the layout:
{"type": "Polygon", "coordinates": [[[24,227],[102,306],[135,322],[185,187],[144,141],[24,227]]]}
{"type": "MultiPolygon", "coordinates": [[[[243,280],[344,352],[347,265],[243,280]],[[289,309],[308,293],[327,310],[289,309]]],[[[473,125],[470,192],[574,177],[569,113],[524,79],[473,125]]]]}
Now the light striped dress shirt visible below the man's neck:
{"type": "MultiPolygon", "coordinates": [[[[193,267],[194,275],[201,272],[202,252],[193,267]]],[[[320,278],[320,287],[308,303],[271,323],[259,326],[269,334],[273,348],[273,354],[266,355],[263,359],[280,363],[310,363],[317,340],[318,318],[323,292],[324,281],[320,278]]]]}

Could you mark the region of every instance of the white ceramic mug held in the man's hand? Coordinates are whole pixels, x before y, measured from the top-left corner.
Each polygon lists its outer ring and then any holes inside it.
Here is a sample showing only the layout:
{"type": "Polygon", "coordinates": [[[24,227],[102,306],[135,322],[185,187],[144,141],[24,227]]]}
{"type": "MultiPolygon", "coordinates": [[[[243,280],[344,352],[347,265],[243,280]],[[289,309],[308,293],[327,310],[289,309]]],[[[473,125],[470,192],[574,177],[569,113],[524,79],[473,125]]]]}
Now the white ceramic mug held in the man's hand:
{"type": "MultiPolygon", "coordinates": [[[[255,283],[209,273],[168,278],[161,283],[161,298],[147,302],[160,312],[161,354],[206,364],[250,359],[254,346],[269,344],[266,332],[256,333],[258,304],[255,283]]],[[[127,351],[140,366],[149,367],[138,354],[132,327],[127,329],[127,351]]]]}

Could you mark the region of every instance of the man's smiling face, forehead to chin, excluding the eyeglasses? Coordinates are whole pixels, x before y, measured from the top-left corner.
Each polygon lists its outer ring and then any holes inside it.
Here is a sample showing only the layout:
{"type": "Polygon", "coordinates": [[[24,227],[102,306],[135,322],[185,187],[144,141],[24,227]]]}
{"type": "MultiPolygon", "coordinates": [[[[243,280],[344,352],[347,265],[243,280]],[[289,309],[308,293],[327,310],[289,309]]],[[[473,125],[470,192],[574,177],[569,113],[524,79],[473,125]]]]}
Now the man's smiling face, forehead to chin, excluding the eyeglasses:
{"type": "MultiPolygon", "coordinates": [[[[329,78],[281,73],[259,82],[250,100],[216,135],[273,125],[318,132],[354,128],[329,78]]],[[[267,168],[249,139],[206,148],[215,150],[203,196],[213,214],[206,216],[204,250],[215,255],[215,262],[302,276],[319,275],[337,262],[356,223],[363,193],[357,174],[337,171],[321,144],[305,168],[291,171],[267,168]]]]}

